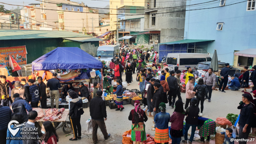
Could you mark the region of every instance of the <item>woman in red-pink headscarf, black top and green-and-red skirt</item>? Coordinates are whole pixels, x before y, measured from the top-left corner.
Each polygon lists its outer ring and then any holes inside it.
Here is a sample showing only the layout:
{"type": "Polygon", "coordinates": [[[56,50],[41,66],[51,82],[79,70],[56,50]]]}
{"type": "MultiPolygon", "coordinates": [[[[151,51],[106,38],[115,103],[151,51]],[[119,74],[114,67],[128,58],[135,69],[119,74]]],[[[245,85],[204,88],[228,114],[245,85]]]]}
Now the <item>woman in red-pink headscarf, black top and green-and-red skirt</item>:
{"type": "Polygon", "coordinates": [[[128,119],[132,121],[131,138],[133,144],[136,144],[137,142],[143,144],[143,141],[147,140],[144,122],[147,122],[148,117],[146,113],[140,108],[140,101],[135,101],[134,106],[135,108],[130,111],[130,115],[128,117],[128,119]]]}

